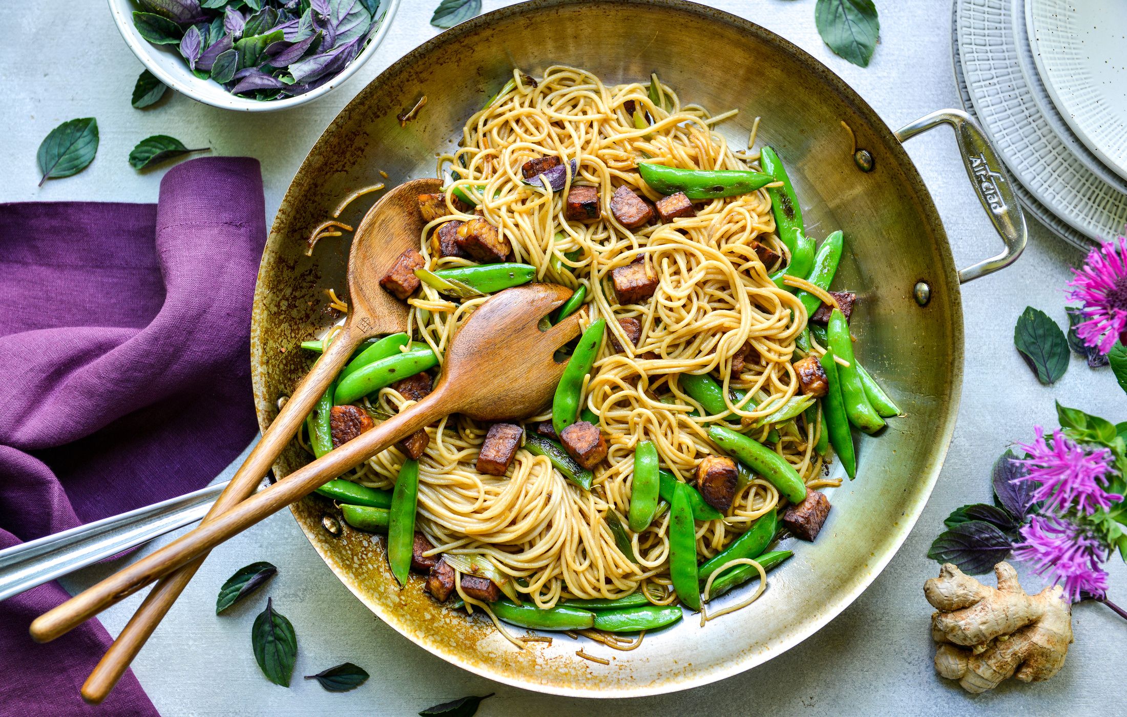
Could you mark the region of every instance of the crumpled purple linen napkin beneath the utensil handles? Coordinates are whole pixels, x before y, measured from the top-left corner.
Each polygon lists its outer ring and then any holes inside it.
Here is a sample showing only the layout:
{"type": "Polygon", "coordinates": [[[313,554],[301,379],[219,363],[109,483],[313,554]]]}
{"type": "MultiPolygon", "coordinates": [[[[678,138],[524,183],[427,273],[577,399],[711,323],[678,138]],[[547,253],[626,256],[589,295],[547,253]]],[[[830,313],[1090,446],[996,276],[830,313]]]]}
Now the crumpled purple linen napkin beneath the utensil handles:
{"type": "MultiPolygon", "coordinates": [[[[266,239],[258,161],[208,157],[153,204],[0,204],[0,548],[206,485],[257,431],[250,304],[266,239]]],[[[156,715],[133,673],[79,689],[110,644],[46,645],[51,583],[0,603],[0,715],[156,715]]]]}

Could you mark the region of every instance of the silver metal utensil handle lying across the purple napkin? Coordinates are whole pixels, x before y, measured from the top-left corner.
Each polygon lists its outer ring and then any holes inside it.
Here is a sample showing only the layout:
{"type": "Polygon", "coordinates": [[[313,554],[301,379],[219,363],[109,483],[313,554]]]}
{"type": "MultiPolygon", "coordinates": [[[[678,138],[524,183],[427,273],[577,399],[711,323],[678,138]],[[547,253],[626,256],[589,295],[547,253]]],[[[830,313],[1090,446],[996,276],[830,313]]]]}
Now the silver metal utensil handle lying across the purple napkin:
{"type": "Polygon", "coordinates": [[[0,550],[0,600],[203,520],[227,483],[0,550]]]}

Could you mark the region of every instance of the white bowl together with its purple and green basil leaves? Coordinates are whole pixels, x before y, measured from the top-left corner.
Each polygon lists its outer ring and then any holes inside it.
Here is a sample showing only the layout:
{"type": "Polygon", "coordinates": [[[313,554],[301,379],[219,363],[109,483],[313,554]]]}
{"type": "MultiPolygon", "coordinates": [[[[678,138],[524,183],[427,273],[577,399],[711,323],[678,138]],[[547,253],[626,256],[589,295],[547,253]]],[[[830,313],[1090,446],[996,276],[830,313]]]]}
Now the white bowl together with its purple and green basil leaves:
{"type": "Polygon", "coordinates": [[[341,85],[375,52],[400,0],[109,0],[157,79],[213,107],[269,112],[341,85]]]}

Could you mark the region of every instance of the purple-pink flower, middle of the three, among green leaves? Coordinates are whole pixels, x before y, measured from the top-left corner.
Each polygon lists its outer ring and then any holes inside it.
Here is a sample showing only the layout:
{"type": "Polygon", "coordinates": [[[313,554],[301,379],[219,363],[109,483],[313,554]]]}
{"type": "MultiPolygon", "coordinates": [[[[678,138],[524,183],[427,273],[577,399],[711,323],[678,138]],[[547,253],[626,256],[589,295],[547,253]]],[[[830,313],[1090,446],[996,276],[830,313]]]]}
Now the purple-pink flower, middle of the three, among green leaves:
{"type": "Polygon", "coordinates": [[[1111,451],[1088,452],[1064,437],[1061,431],[1053,433],[1049,445],[1044,428],[1037,426],[1035,431],[1036,441],[1029,445],[1018,444],[1029,457],[1017,462],[1027,466],[1029,473],[1015,479],[1040,484],[1033,493],[1035,501],[1059,513],[1076,510],[1091,515],[1097,510],[1110,508],[1112,501],[1124,499],[1103,489],[1111,471],[1111,451]]]}

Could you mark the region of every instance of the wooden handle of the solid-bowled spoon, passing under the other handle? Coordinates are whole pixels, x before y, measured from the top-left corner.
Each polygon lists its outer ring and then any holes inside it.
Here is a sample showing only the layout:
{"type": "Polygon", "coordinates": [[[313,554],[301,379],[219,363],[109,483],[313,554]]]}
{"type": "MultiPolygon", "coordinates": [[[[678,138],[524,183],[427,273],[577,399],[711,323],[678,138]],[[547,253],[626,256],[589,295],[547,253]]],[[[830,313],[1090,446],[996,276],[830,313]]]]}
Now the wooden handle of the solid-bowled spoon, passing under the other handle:
{"type": "MultiPolygon", "coordinates": [[[[360,331],[352,330],[354,319],[355,317],[352,317],[348,324],[345,325],[345,329],[334,337],[328,351],[318,358],[313,365],[313,370],[298,384],[296,390],[286,400],[285,405],[282,406],[278,415],[270,423],[266,433],[263,434],[263,440],[250,452],[242,467],[239,468],[239,471],[231,478],[231,481],[219,499],[212,505],[211,511],[208,511],[203,520],[203,524],[207,524],[219,515],[222,515],[227,510],[254,495],[263,477],[274,466],[274,461],[285,446],[289,445],[298,431],[301,430],[302,422],[309,415],[309,411],[313,409],[317,399],[329,387],[332,379],[340,372],[345,363],[348,362],[348,357],[353,351],[364,339],[364,336],[360,331]]],[[[187,587],[192,581],[192,576],[196,574],[196,570],[199,569],[206,557],[206,554],[201,555],[190,564],[185,565],[183,568],[161,579],[149,592],[141,607],[137,608],[136,612],[122,629],[121,635],[117,636],[117,639],[114,640],[114,644],[103,655],[94,672],[87,678],[86,683],[82,685],[82,699],[92,705],[97,705],[106,699],[106,696],[114,689],[114,685],[117,684],[117,681],[128,669],[130,663],[133,662],[133,658],[144,647],[149,636],[160,625],[165,614],[172,607],[172,603],[176,602],[176,599],[180,596],[180,593],[184,592],[184,588],[187,587]]],[[[133,591],[131,590],[130,592],[133,591]]],[[[103,604],[98,610],[100,611],[103,608],[117,602],[125,594],[114,596],[110,602],[103,604]]],[[[83,617],[81,620],[86,620],[88,617],[90,616],[83,617]]],[[[78,622],[74,625],[78,625],[78,622]]]]}

